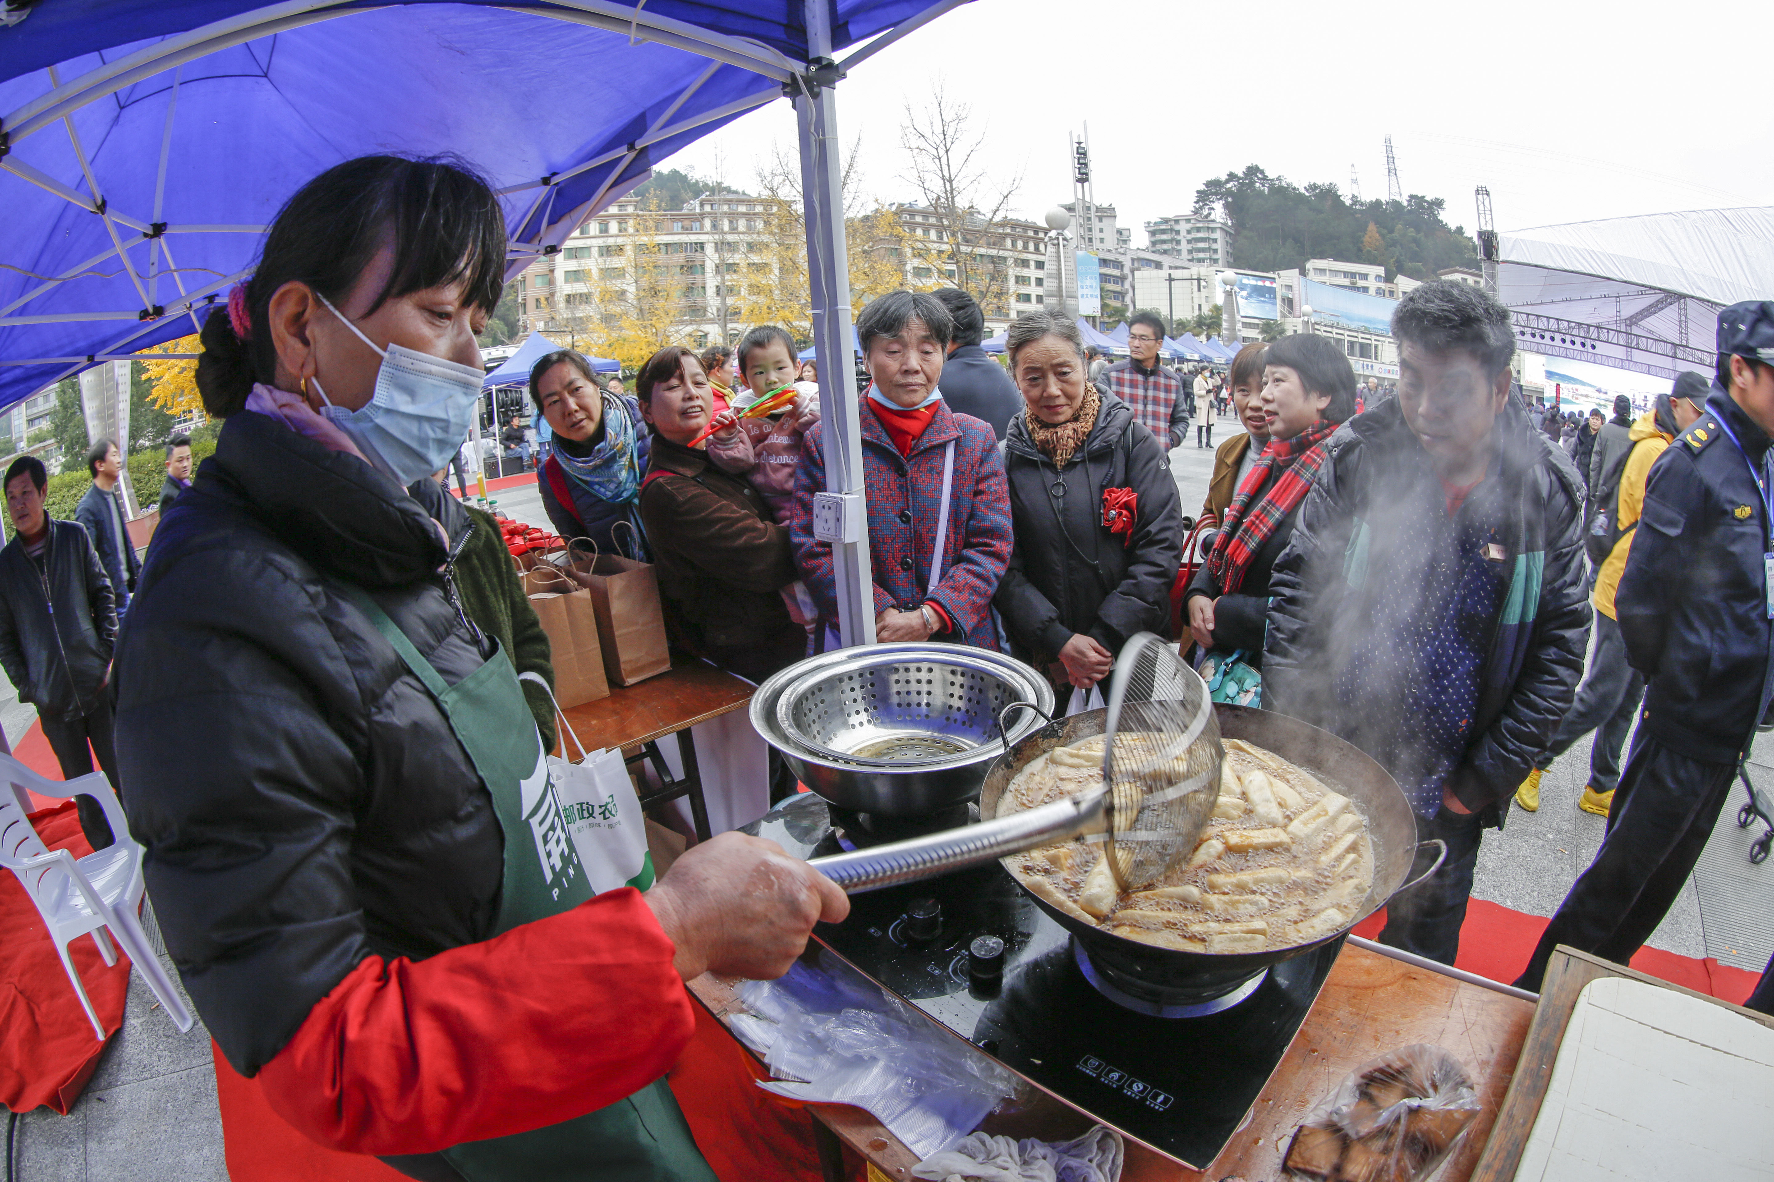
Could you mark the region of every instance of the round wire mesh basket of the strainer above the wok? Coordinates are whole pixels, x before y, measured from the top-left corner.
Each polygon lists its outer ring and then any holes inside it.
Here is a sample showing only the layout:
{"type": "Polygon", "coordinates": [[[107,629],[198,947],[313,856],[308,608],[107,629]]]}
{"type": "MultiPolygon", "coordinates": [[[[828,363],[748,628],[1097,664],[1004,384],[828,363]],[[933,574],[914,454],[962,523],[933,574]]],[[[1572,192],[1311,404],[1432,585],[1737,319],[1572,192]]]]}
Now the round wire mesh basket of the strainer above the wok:
{"type": "Polygon", "coordinates": [[[1224,758],[1206,682],[1169,642],[1126,642],[1103,721],[1103,852],[1116,886],[1144,888],[1194,851],[1224,758]]]}

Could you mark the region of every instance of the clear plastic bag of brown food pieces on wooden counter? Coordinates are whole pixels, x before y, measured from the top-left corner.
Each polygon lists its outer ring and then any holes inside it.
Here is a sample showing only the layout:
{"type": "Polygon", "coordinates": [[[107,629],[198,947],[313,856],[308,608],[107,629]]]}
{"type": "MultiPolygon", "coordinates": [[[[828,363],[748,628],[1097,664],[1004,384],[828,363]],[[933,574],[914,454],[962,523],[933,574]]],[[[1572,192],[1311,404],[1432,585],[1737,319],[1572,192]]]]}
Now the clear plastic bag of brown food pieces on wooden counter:
{"type": "Polygon", "coordinates": [[[1478,1116],[1460,1060],[1426,1044],[1352,1072],[1293,1132],[1286,1168],[1322,1182],[1423,1182],[1478,1116]]]}

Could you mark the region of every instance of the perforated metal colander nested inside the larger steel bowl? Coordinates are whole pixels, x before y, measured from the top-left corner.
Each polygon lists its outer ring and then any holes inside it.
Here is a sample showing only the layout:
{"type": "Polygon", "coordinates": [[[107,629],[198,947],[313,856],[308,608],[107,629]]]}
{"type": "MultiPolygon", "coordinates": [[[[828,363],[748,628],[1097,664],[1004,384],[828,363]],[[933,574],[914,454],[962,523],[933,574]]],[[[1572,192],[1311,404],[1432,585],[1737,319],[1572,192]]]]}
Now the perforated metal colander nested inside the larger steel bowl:
{"type": "MultiPolygon", "coordinates": [[[[985,746],[1002,751],[999,714],[1013,702],[1038,705],[1038,680],[1018,663],[951,645],[885,659],[864,649],[789,684],[775,714],[782,734],[814,755],[864,767],[933,766],[985,746]]],[[[1013,711],[1008,723],[1011,741],[1041,725],[1032,711],[1013,711]]]]}

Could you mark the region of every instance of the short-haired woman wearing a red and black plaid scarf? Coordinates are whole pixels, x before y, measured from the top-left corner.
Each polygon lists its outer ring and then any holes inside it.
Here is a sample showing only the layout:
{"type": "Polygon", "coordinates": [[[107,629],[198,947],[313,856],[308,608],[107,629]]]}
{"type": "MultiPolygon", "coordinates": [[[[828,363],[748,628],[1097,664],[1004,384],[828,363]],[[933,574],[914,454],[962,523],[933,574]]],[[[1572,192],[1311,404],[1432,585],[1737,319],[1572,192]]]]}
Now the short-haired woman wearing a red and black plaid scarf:
{"type": "Polygon", "coordinates": [[[1268,347],[1260,397],[1268,445],[1238,484],[1213,549],[1185,594],[1189,631],[1201,652],[1228,659],[1240,652],[1251,670],[1263,665],[1268,574],[1323,463],[1318,445],[1355,413],[1355,370],[1325,337],[1283,337],[1268,347]]]}

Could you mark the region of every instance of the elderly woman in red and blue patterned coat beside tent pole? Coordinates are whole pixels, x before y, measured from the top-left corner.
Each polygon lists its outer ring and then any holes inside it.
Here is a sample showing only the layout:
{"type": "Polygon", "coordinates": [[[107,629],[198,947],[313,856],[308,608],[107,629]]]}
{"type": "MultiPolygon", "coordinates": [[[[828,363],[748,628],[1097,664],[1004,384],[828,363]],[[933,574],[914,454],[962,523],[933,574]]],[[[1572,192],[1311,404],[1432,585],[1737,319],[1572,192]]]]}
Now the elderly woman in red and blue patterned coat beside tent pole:
{"type": "MultiPolygon", "coordinates": [[[[922,292],[885,294],[857,319],[871,379],[857,418],[875,634],[997,649],[992,595],[1009,564],[1009,486],[992,427],[942,402],[937,379],[951,335],[947,308],[922,292]]],[[[802,439],[789,539],[821,617],[836,624],[832,548],[812,537],[812,494],[825,489],[823,429],[802,439]]]]}

